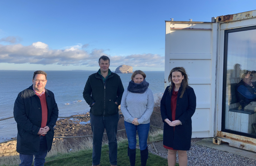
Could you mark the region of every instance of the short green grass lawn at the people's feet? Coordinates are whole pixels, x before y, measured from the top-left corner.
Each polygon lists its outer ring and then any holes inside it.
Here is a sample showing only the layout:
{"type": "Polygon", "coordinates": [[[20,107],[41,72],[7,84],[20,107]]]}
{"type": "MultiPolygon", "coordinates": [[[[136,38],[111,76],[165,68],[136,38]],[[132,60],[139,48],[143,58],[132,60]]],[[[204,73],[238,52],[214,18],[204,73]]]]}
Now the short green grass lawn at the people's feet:
{"type": "MultiPolygon", "coordinates": [[[[118,166],[130,165],[129,157],[127,156],[127,147],[118,148],[118,166]]],[[[64,159],[58,159],[49,161],[44,164],[45,166],[91,166],[92,165],[92,153],[82,154],[79,156],[67,157],[64,159]]],[[[140,150],[136,149],[136,164],[140,165],[140,150]]],[[[159,157],[157,155],[149,153],[147,160],[147,166],[167,166],[167,159],[159,157]]],[[[109,151],[103,150],[101,152],[101,166],[110,166],[109,163],[109,151]]],[[[178,166],[178,164],[176,164],[178,166]]]]}

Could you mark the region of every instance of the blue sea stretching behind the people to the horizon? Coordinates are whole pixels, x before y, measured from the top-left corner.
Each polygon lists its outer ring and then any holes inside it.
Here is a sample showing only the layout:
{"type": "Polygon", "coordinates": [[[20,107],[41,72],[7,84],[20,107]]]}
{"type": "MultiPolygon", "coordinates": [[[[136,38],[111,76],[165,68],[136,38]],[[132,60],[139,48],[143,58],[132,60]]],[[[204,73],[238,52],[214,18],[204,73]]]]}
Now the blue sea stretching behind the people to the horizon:
{"type": "MultiPolygon", "coordinates": [[[[97,71],[45,71],[46,89],[51,90],[59,108],[59,116],[87,113],[89,105],[83,98],[83,90],[89,75],[97,71]],[[80,101],[80,102],[79,102],[80,101]]],[[[18,93],[32,85],[34,71],[0,70],[0,119],[13,116],[14,101],[18,93]]],[[[153,91],[154,98],[164,92],[164,71],[145,71],[146,81],[153,91]]],[[[131,73],[118,74],[124,88],[131,80],[131,73]]],[[[0,142],[17,136],[14,118],[0,121],[0,142]]]]}

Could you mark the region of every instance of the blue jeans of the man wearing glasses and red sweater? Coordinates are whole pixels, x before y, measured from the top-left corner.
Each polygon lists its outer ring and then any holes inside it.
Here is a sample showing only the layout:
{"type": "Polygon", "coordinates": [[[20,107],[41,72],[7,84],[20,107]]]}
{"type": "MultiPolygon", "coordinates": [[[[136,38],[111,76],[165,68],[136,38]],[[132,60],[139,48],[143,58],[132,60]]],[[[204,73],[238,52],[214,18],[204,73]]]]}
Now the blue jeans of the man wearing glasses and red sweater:
{"type": "MultiPolygon", "coordinates": [[[[34,166],[43,166],[45,163],[45,157],[47,155],[48,149],[47,149],[47,142],[45,136],[40,136],[40,152],[39,154],[35,155],[35,162],[34,166]]],[[[33,162],[33,156],[34,155],[23,155],[19,154],[19,159],[21,160],[21,163],[19,166],[31,166],[33,162]]]]}

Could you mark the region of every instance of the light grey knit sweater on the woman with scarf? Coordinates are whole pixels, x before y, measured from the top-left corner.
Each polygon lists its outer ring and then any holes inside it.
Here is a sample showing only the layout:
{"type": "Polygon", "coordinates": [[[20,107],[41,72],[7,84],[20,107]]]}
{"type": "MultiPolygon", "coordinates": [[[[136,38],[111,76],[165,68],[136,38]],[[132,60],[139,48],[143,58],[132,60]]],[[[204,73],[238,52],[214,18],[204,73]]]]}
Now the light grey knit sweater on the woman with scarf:
{"type": "Polygon", "coordinates": [[[126,122],[132,123],[134,118],[138,118],[139,124],[147,124],[150,122],[150,116],[154,108],[154,96],[151,89],[147,89],[144,93],[132,93],[124,90],[121,111],[126,122]]]}

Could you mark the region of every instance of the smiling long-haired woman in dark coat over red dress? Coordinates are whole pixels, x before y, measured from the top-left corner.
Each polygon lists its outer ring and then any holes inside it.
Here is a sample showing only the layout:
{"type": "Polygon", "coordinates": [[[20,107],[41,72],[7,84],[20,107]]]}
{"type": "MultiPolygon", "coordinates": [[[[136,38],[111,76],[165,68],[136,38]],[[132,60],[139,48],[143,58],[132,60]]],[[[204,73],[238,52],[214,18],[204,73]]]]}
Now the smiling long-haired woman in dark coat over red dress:
{"type": "Polygon", "coordinates": [[[196,95],[193,88],[188,86],[188,75],[183,67],[173,68],[168,80],[171,85],[167,86],[161,100],[163,146],[168,149],[168,166],[175,166],[177,151],[179,165],[187,166],[196,95]]]}

